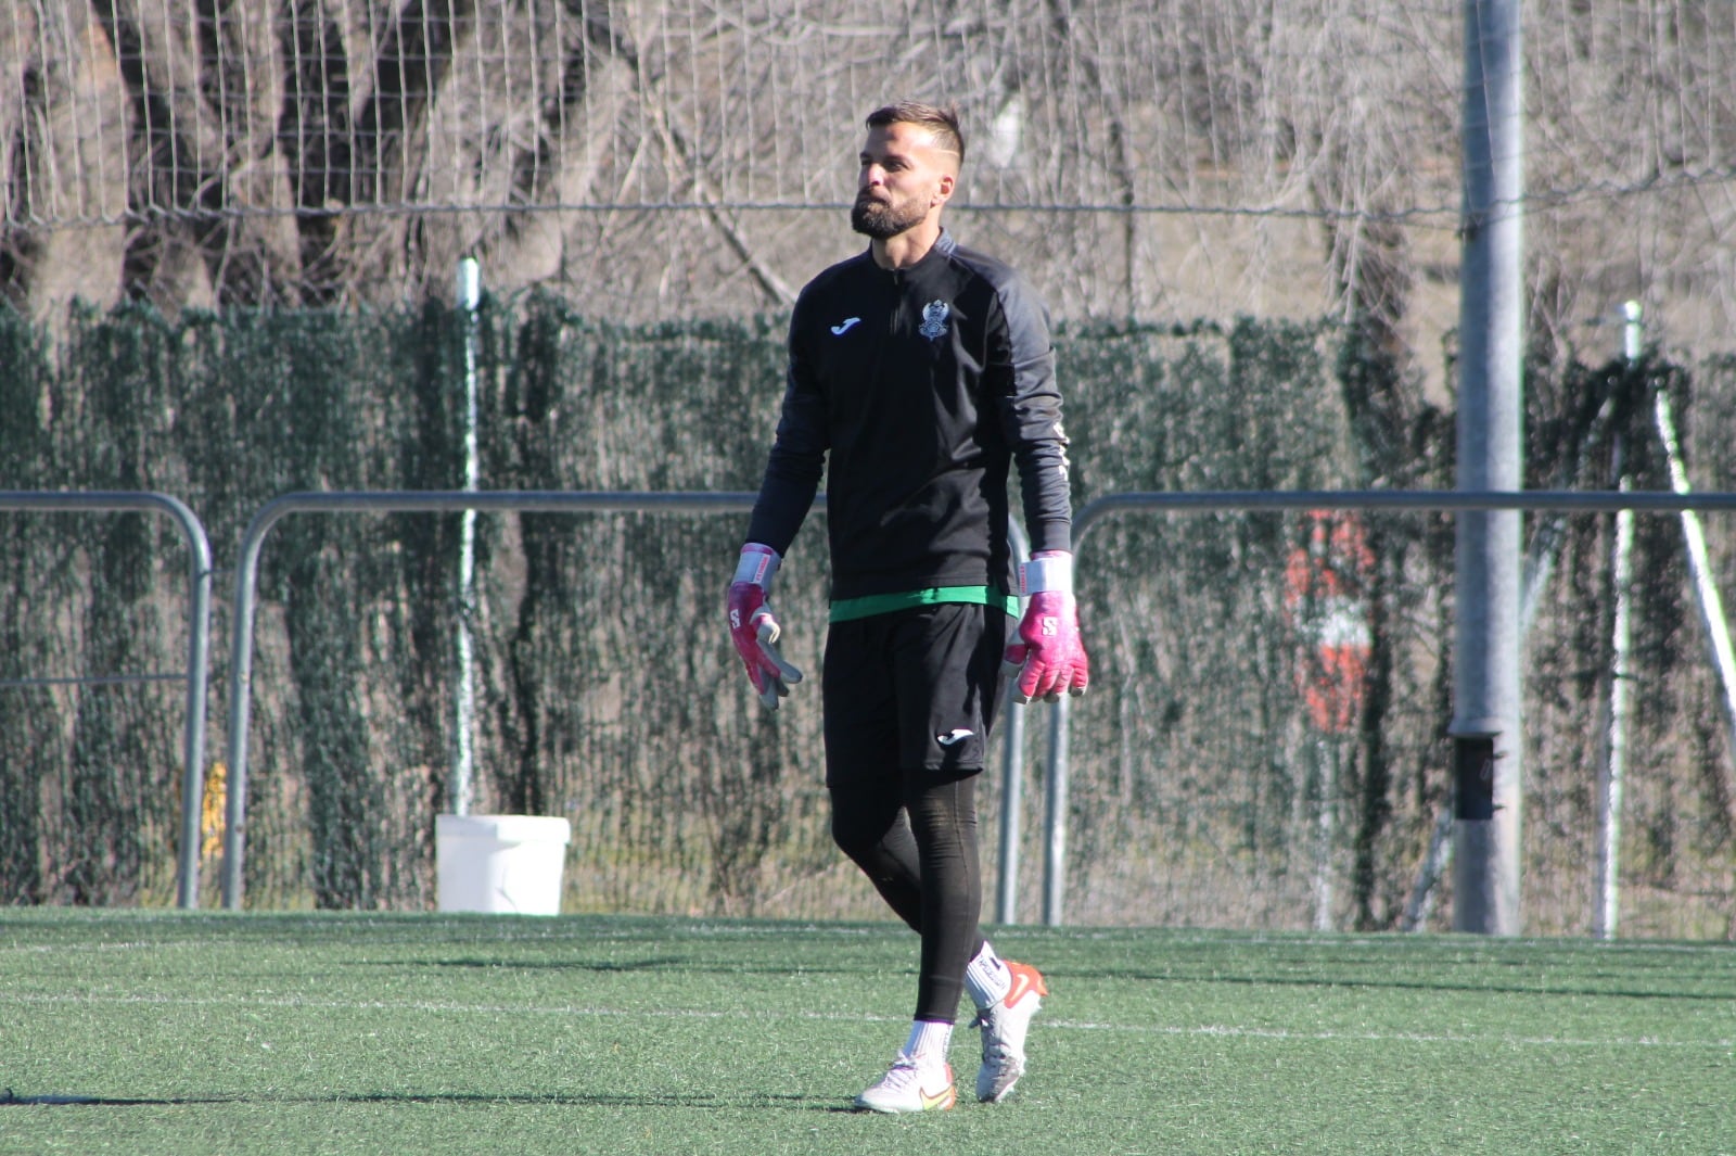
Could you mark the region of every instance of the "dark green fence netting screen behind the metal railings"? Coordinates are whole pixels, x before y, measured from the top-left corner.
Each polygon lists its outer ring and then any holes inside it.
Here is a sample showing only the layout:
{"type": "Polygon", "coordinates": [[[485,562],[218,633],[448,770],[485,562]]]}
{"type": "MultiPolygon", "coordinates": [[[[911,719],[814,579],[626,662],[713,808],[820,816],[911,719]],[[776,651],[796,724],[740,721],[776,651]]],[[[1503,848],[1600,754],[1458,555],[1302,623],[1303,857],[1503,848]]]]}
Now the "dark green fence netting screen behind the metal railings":
{"type": "MultiPolygon", "coordinates": [[[[253,512],[293,489],[462,483],[465,330],[396,311],[0,312],[7,489],[158,489],[217,552],[212,734],[253,512]]],[[[630,328],[543,295],[484,302],[488,489],[753,489],[783,319],[630,328]]],[[[1066,326],[1075,498],[1128,489],[1450,488],[1453,418],[1356,326],[1066,326]]],[[[1528,486],[1667,488],[1653,397],[1696,486],[1729,489],[1736,363],[1528,366],[1528,486]]],[[[823,517],[816,514],[814,521],[823,517]]],[[[135,514],[0,514],[0,901],[168,903],[186,559],[135,514]],[[101,680],[99,680],[101,679],[101,680]]],[[[830,847],[812,687],[764,713],[720,627],[745,519],[488,514],[470,621],[476,811],[571,819],[568,910],[878,916],[830,847]]],[[[1590,923],[1611,693],[1609,516],[1528,517],[1526,918],[1590,923]]],[[[1727,519],[1706,517],[1722,588],[1727,519]]],[[[779,575],[818,668],[825,535],[779,575]]],[[[1094,689],[1071,720],[1068,915],[1241,927],[1443,925],[1453,521],[1444,514],[1128,514],[1082,550],[1094,689]],[[1432,899],[1432,908],[1418,899],[1432,899]],[[1432,910],[1432,915],[1427,911],[1432,910]]],[[[1637,519],[1623,929],[1726,936],[1731,734],[1674,516],[1637,519]]],[[[285,519],[266,543],[247,897],[427,908],[448,807],[458,516],[285,519]]],[[[1036,708],[1038,712],[1042,708],[1036,708]]],[[[1040,894],[1047,727],[1028,727],[1023,918],[1040,894]]],[[[224,769],[212,767],[214,793],[224,769]]],[[[996,769],[998,778],[998,769],[996,769]]],[[[986,863],[1000,791],[984,791],[986,863]]],[[[217,819],[207,800],[205,897],[217,819]]]]}

